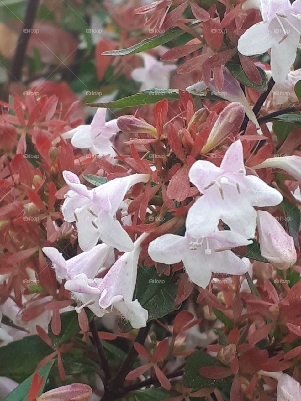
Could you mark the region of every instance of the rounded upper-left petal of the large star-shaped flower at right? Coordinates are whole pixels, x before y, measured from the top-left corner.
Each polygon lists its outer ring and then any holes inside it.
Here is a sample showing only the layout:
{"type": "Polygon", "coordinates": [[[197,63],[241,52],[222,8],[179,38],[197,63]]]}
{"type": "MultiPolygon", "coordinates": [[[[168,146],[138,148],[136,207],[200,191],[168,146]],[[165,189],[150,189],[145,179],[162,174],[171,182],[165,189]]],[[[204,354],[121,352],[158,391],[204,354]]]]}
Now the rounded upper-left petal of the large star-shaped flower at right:
{"type": "Polygon", "coordinates": [[[207,160],[197,160],[189,170],[189,180],[203,193],[204,188],[220,175],[220,168],[207,160]]]}

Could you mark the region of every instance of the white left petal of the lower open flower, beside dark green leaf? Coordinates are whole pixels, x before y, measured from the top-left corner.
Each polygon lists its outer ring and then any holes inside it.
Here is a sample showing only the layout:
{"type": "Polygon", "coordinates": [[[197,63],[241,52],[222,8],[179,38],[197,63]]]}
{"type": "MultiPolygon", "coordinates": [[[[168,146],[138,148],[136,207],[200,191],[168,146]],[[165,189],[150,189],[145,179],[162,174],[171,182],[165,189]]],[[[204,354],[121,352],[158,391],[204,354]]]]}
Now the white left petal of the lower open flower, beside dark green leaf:
{"type": "Polygon", "coordinates": [[[161,235],[148,245],[148,255],[154,262],[178,263],[189,249],[189,240],[175,234],[161,235]]]}

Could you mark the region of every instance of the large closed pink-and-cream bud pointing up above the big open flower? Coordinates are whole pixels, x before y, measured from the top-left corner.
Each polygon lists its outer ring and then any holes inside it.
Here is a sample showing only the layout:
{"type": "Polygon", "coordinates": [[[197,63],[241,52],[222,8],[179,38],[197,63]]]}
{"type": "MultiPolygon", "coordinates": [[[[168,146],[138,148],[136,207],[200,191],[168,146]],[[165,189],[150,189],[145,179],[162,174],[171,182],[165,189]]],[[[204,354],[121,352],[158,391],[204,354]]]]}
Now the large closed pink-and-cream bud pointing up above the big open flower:
{"type": "Polygon", "coordinates": [[[209,152],[228,138],[231,133],[238,134],[243,121],[244,107],[241,103],[234,101],[226,106],[214,123],[201,153],[209,152]]]}

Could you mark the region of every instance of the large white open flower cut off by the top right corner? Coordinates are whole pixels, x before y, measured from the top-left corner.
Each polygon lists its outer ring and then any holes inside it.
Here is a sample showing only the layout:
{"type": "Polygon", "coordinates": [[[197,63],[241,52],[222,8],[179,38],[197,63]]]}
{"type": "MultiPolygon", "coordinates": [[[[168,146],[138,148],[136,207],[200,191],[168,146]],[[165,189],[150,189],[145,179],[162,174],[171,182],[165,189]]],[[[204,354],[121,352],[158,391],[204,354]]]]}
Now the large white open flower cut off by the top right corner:
{"type": "Polygon", "coordinates": [[[244,9],[258,8],[262,22],[251,26],[238,40],[238,51],[245,56],[270,51],[270,66],[276,83],[285,81],[301,47],[301,5],[289,0],[246,2],[244,9]]]}

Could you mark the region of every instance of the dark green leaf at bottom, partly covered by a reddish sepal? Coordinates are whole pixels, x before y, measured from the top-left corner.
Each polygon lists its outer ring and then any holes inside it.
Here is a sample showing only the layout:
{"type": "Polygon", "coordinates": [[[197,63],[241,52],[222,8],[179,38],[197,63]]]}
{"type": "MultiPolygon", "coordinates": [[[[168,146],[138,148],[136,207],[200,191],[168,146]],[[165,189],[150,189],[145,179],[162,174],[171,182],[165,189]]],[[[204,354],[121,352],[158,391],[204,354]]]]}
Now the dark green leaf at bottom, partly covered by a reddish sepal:
{"type": "MultiPolygon", "coordinates": [[[[232,377],[225,379],[207,379],[199,373],[199,369],[206,366],[223,366],[213,356],[204,351],[196,350],[191,354],[185,365],[183,387],[193,387],[203,389],[204,387],[216,387],[218,389],[231,386],[232,377]]],[[[230,392],[230,391],[229,391],[230,392]]]]}

